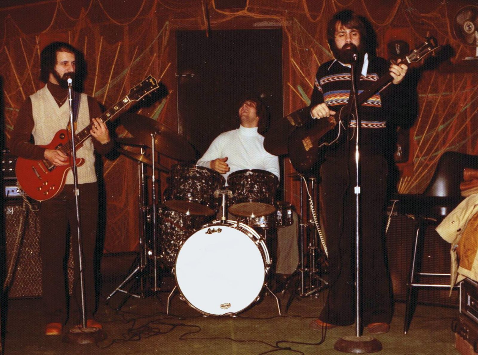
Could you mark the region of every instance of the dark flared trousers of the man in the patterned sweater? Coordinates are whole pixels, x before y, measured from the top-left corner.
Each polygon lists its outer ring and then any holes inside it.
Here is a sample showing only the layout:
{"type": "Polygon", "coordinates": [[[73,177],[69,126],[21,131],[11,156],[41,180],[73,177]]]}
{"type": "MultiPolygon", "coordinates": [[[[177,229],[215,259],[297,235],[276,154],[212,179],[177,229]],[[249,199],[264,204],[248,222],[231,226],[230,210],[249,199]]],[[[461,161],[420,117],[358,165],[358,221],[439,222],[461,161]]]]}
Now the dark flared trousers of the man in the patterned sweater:
{"type": "MultiPolygon", "coordinates": [[[[390,323],[392,303],[383,223],[388,167],[383,156],[375,155],[362,157],[360,168],[361,321],[362,325],[390,323]]],[[[356,318],[355,177],[355,161],[350,158],[329,157],[321,167],[320,207],[326,231],[330,287],[319,318],[329,324],[349,325],[356,318]]]]}

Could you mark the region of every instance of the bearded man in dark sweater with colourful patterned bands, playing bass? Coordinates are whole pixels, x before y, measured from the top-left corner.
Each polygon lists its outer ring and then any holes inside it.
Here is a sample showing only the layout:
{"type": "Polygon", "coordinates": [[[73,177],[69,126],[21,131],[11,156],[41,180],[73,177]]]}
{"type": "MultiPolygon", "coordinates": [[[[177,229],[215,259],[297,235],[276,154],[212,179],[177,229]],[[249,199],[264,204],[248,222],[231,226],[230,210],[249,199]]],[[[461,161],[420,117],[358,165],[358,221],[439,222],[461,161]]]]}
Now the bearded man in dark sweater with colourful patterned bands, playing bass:
{"type": "MultiPolygon", "coordinates": [[[[316,74],[311,97],[310,115],[313,119],[333,119],[349,100],[351,63],[357,54],[359,93],[368,84],[390,73],[391,84],[372,95],[359,106],[361,117],[361,239],[363,324],[368,332],[388,332],[392,316],[390,281],[384,261],[383,209],[385,206],[387,162],[384,158],[387,123],[400,124],[402,108],[410,104],[415,94],[409,92],[402,80],[407,73],[404,63],[391,64],[376,57],[369,22],[352,12],[336,13],[327,26],[327,40],[335,59],[322,64],[316,74]]],[[[408,118],[409,116],[407,116],[408,118]]],[[[357,123],[348,121],[345,135],[350,138],[357,123]]],[[[329,295],[319,318],[310,323],[313,329],[355,322],[355,193],[356,181],[354,143],[340,143],[326,149],[321,165],[321,208],[326,231],[329,257],[329,295]],[[351,149],[348,147],[351,146],[351,149]],[[351,154],[352,153],[352,154],[351,154]]]]}

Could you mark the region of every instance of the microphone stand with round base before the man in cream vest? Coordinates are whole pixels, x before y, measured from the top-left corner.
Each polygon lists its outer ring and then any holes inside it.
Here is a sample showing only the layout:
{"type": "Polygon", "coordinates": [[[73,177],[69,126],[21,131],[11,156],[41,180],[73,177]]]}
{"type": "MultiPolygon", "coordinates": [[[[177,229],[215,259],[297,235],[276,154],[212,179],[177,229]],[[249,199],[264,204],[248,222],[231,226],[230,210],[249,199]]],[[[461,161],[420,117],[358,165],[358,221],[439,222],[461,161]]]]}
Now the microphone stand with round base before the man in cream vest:
{"type": "Polygon", "coordinates": [[[83,252],[81,250],[81,219],[78,189],[78,167],[76,166],[76,146],[75,146],[75,122],[73,118],[73,92],[72,79],[68,78],[68,104],[70,106],[70,130],[71,130],[71,153],[73,163],[73,182],[76,205],[76,232],[78,236],[78,268],[80,274],[81,287],[81,320],[82,324],[75,325],[64,336],[63,341],[70,344],[91,344],[97,343],[106,338],[106,334],[96,327],[87,327],[86,305],[85,305],[85,275],[83,270],[83,252]]]}

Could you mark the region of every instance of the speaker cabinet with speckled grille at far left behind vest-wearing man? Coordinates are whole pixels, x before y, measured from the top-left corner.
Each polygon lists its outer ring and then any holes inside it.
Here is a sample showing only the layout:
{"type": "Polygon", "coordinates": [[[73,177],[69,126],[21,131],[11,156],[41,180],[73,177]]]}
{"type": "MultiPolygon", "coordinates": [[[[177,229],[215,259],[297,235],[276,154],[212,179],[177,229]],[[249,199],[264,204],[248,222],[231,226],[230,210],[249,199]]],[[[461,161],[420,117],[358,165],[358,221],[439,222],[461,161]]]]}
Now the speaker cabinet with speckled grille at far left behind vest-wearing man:
{"type": "MultiPolygon", "coordinates": [[[[5,206],[5,278],[9,298],[42,296],[42,259],[38,214],[25,205],[5,206]]],[[[68,260],[68,283],[73,286],[72,248],[68,260]]]]}

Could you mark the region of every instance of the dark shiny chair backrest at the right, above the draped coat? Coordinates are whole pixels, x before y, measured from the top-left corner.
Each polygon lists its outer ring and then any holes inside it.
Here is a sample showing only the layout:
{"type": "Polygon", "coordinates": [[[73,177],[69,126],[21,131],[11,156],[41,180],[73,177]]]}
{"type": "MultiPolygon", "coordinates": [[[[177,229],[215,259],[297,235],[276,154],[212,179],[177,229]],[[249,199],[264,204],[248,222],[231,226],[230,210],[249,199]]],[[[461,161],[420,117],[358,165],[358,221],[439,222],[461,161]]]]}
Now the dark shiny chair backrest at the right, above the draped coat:
{"type": "Polygon", "coordinates": [[[478,169],[478,156],[458,152],[443,153],[423,195],[460,197],[460,182],[463,181],[465,167],[478,169]]]}

